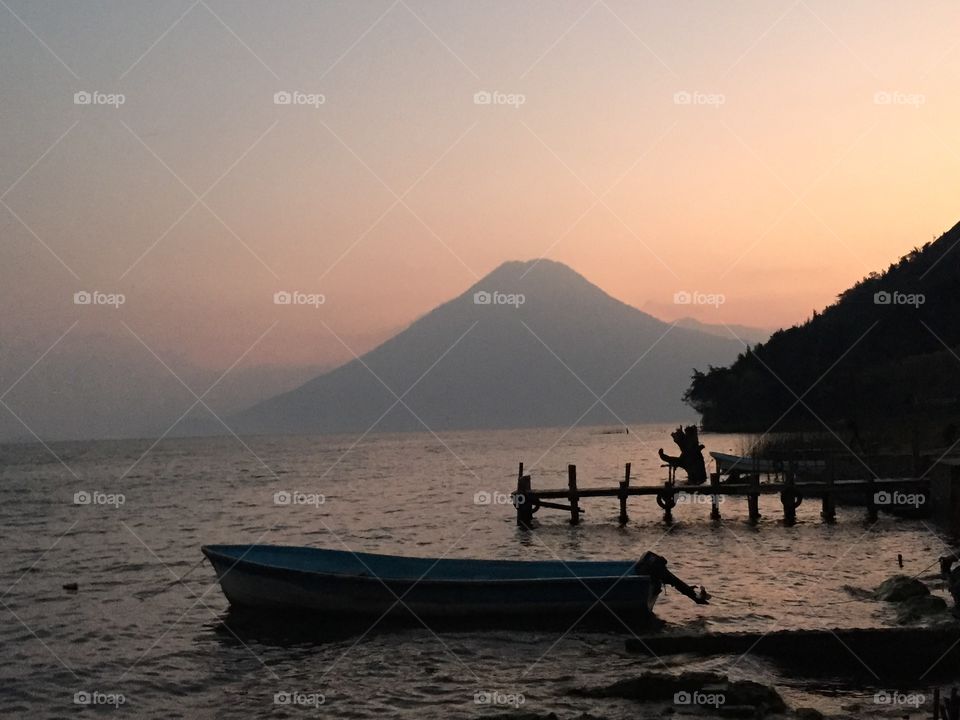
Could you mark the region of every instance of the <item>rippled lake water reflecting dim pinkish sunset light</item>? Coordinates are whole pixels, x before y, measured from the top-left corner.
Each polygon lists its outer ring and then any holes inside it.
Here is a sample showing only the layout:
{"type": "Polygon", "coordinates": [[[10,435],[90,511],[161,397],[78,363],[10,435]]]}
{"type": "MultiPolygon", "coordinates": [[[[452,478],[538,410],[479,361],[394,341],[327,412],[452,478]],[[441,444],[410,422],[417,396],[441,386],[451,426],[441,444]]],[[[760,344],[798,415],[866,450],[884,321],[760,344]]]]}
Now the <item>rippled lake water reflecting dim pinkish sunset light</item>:
{"type": "MultiPolygon", "coordinates": [[[[671,666],[774,683],[790,704],[833,714],[928,717],[929,708],[874,703],[878,691],[925,688],[787,676],[749,654],[646,660],[625,652],[626,633],[373,628],[289,642],[224,624],[213,573],[197,566],[204,543],[517,559],[638,558],[655,548],[716,595],[700,607],[668,592],[657,613],[674,629],[764,632],[892,624],[889,607],[852,600],[843,587],[876,586],[898,571],[898,553],[903,572],[917,574],[946,551],[927,522],[867,526],[853,509],[825,525],[819,507],[803,505],[800,523],[786,528],[774,497],[762,500],[755,528],[736,501],[723,504],[720,524],[706,505],[681,505],[668,530],[652,499],[632,499],[620,529],[616,500],[605,498],[584,501],[579,527],[542,510],[535,532],[516,529],[507,494],[518,461],[534,487],[565,485],[569,462],[581,486],[614,483],[628,460],[636,482],[661,482],[656,448],[669,444],[668,431],[55,444],[59,460],[41,446],[0,448],[0,716],[478,718],[519,708],[657,717],[568,691],[671,666]],[[308,502],[278,504],[278,493],[308,502]],[[167,586],[188,571],[184,585],[167,586]],[[77,592],[63,589],[71,582],[77,592]]],[[[704,442],[742,449],[734,436],[704,442]]]]}

